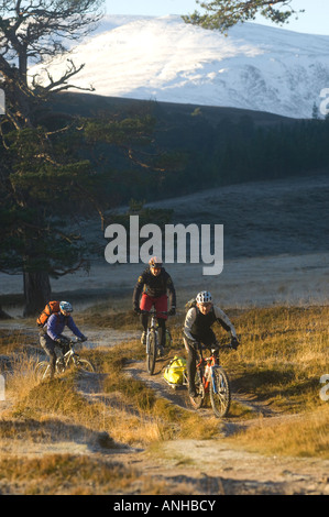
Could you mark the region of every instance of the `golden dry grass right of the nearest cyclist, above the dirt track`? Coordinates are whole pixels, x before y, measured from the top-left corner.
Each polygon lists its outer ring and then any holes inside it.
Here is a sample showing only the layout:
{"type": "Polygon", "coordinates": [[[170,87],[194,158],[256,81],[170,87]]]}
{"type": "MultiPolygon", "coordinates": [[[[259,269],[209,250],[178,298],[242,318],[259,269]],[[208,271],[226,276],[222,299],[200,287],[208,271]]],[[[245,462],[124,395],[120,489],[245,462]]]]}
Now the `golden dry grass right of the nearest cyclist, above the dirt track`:
{"type": "Polygon", "coordinates": [[[317,408],[328,371],[328,307],[273,308],[235,318],[242,345],[224,361],[237,389],[286,411],[317,408]]]}

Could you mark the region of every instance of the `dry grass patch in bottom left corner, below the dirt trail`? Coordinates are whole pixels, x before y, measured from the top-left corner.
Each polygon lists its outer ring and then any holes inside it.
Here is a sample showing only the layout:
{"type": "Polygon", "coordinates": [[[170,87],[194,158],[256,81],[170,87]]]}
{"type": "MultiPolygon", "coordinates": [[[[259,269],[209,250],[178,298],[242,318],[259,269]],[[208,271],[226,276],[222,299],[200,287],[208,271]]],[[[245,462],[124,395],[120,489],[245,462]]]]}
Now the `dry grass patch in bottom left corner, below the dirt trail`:
{"type": "Polygon", "coordinates": [[[22,495],[160,494],[163,484],[110,460],[74,454],[8,458],[0,462],[1,493],[22,495]]]}

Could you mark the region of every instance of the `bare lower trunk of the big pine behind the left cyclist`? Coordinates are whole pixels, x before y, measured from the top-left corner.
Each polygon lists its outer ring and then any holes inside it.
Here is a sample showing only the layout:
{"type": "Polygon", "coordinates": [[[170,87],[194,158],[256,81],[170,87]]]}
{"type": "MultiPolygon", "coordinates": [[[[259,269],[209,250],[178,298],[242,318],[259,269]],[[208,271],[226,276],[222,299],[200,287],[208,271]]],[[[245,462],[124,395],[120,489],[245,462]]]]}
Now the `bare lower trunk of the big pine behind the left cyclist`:
{"type": "Polygon", "coordinates": [[[52,288],[47,272],[23,273],[25,308],[24,317],[35,316],[52,299],[52,288]]]}

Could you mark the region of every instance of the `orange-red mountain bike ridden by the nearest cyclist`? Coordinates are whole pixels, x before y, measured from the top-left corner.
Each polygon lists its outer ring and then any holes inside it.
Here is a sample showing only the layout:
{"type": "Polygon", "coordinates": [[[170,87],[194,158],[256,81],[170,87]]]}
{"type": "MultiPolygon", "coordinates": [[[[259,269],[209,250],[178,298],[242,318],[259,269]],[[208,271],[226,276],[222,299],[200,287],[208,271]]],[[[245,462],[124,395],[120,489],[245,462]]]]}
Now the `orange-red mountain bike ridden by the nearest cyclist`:
{"type": "MultiPolygon", "coordinates": [[[[222,345],[221,349],[227,349],[230,345],[222,345]]],[[[197,397],[189,397],[191,405],[195,409],[199,409],[209,394],[210,403],[215,415],[223,418],[228,415],[231,404],[231,388],[228,374],[219,364],[218,351],[211,349],[209,358],[202,356],[202,348],[198,349],[198,362],[196,370],[196,392],[197,397]]]]}

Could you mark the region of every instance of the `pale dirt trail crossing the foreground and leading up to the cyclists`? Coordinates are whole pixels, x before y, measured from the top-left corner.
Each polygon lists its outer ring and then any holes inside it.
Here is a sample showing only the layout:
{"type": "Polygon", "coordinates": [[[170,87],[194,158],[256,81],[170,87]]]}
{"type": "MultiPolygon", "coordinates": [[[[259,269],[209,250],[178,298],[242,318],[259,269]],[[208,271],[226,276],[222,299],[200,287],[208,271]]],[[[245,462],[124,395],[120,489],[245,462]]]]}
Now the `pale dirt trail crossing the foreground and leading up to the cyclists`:
{"type": "MultiPolygon", "coordinates": [[[[109,334],[92,336],[95,345],[107,341],[109,334]]],[[[91,334],[90,334],[91,337],[91,334]]],[[[112,336],[117,341],[119,336],[112,336]]],[[[127,375],[150,385],[155,392],[166,397],[172,404],[193,410],[187,400],[186,388],[174,391],[163,378],[163,369],[168,359],[164,358],[156,363],[155,375],[152,377],[145,371],[145,362],[129,363],[125,367],[127,375]]],[[[116,410],[116,399],[101,392],[101,375],[85,374],[79,382],[79,392],[89,403],[99,399],[108,402],[108,411],[116,410]]],[[[298,416],[277,415],[266,407],[241,394],[233,393],[233,399],[246,405],[252,409],[254,417],[250,420],[238,421],[233,418],[219,420],[222,436],[233,436],[241,426],[253,426],[260,424],[271,425],[277,419],[296,418],[298,416]]],[[[1,417],[11,407],[11,400],[0,403],[1,417]]],[[[133,410],[133,408],[132,408],[133,410]]],[[[201,408],[201,415],[212,417],[210,408],[201,408]]],[[[145,494],[143,492],[143,479],[152,477],[154,483],[161,484],[163,494],[323,494],[329,495],[329,461],[319,459],[296,459],[281,457],[263,457],[261,454],[246,452],[239,442],[216,440],[173,440],[165,441],[158,446],[156,453],[151,454],[143,448],[130,448],[120,446],[109,449],[103,447],[103,436],[99,432],[86,430],[79,426],[69,426],[63,422],[65,432],[63,438],[53,439],[50,429],[43,427],[46,433],[43,440],[1,439],[0,457],[4,454],[13,457],[34,458],[53,453],[87,454],[89,458],[101,459],[101,461],[119,462],[127,468],[135,470],[136,476],[134,487],[129,486],[125,494],[145,494]],[[72,429],[74,427],[74,429],[72,429]],[[68,429],[69,428],[69,429],[68,429]],[[66,432],[67,431],[67,432],[66,432]],[[48,438],[47,438],[48,433],[48,438]]],[[[34,430],[35,433],[40,429],[34,430]]],[[[0,487],[1,491],[1,487],[0,487]]],[[[124,494],[124,492],[123,492],[124,494]]]]}

